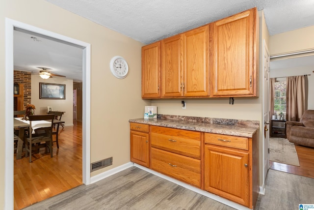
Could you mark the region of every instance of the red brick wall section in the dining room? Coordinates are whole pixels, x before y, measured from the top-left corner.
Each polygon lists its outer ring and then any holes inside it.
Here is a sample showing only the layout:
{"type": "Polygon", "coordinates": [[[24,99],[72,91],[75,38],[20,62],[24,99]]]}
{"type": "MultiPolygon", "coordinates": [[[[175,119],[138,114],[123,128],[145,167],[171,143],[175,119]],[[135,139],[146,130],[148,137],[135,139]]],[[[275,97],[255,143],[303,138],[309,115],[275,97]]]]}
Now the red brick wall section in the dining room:
{"type": "MultiPolygon", "coordinates": [[[[14,83],[24,84],[24,106],[31,102],[31,73],[14,70],[14,83]]],[[[12,85],[13,86],[13,85],[12,85]]]]}

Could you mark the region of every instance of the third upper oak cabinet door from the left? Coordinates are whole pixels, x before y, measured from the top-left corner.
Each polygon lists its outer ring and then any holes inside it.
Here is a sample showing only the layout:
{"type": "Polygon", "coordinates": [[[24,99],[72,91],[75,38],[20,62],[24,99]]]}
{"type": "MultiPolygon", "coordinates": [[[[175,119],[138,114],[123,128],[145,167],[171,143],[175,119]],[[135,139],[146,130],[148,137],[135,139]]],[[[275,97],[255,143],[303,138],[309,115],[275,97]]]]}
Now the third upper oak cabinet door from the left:
{"type": "Polygon", "coordinates": [[[209,95],[209,25],[183,33],[184,97],[209,95]]]}

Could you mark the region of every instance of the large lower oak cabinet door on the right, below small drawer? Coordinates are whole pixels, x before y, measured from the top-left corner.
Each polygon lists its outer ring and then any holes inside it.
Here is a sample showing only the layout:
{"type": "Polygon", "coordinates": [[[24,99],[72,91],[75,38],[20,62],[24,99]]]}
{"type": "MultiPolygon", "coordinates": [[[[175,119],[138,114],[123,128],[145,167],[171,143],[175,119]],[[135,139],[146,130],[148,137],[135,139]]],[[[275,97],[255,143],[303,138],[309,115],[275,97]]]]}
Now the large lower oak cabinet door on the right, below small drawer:
{"type": "Polygon", "coordinates": [[[249,153],[206,144],[204,165],[205,190],[249,206],[249,153]]]}

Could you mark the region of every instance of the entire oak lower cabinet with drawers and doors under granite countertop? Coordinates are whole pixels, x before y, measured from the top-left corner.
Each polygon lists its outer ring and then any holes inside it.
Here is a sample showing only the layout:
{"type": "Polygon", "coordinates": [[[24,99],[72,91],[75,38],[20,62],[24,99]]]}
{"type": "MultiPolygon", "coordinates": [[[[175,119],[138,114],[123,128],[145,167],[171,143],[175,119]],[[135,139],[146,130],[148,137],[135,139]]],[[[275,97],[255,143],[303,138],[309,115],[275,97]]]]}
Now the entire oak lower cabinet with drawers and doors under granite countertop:
{"type": "Polygon", "coordinates": [[[252,138],[131,123],[131,161],[253,209],[259,196],[252,138]]]}

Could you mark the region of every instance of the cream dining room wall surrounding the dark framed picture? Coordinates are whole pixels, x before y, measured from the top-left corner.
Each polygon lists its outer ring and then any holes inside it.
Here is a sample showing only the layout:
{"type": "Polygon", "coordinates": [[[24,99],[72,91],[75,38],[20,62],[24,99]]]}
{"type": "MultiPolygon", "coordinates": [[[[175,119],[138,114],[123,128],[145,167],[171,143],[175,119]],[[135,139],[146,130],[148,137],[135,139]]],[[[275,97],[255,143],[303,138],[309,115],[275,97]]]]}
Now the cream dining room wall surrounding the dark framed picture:
{"type": "Polygon", "coordinates": [[[52,111],[65,112],[61,118],[65,126],[73,125],[73,80],[63,77],[44,80],[39,75],[31,75],[31,103],[36,107],[36,115],[47,114],[47,106],[51,106],[52,111]],[[39,83],[65,85],[65,99],[39,99],[39,83]]]}

